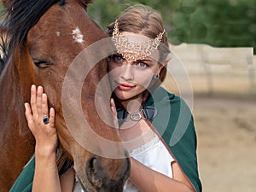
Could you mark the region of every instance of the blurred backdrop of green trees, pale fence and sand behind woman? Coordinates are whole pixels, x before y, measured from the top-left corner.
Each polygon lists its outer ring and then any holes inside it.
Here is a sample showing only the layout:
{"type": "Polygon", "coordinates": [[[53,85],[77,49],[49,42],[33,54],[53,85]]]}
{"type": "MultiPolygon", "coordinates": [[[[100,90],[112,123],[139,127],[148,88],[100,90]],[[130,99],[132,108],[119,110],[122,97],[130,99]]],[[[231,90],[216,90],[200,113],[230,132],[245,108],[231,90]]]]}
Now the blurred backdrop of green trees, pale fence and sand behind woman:
{"type": "Polygon", "coordinates": [[[256,192],[256,0],[94,0],[88,13],[105,30],[134,3],[163,17],[176,55],[164,86],[190,94],[203,191],[256,192]]]}

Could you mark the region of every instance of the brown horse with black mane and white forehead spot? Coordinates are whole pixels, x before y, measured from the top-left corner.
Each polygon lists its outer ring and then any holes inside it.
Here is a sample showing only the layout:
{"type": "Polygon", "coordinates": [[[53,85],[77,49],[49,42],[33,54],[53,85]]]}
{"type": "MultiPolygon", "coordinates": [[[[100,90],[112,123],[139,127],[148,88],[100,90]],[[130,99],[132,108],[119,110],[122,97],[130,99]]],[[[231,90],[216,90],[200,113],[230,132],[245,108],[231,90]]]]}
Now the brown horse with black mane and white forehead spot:
{"type": "MultiPolygon", "coordinates": [[[[1,192],[9,191],[34,153],[34,138],[24,115],[24,102],[30,101],[32,84],[44,86],[49,107],[55,108],[55,126],[60,148],[64,151],[62,154],[65,160],[73,161],[84,190],[123,189],[129,175],[129,159],[104,157],[83,148],[68,129],[62,111],[61,88],[68,67],[83,49],[106,38],[87,15],[88,3],[90,0],[3,0],[7,10],[3,25],[7,31],[3,35],[1,65],[4,67],[0,76],[1,192]]],[[[90,63],[81,63],[84,67],[87,64],[90,63]]],[[[90,126],[100,137],[119,143],[117,130],[101,119],[94,104],[97,85],[101,82],[103,86],[97,90],[100,91],[97,105],[111,121],[109,98],[108,102],[104,98],[110,92],[108,80],[101,81],[106,74],[107,63],[102,60],[90,70],[84,81],[80,95],[83,98],[80,105],[88,123],[84,129],[90,126]]],[[[73,112],[70,111],[69,115],[73,117],[73,112]]],[[[84,140],[98,144],[96,148],[101,150],[100,140],[97,143],[96,138],[86,136],[84,140]]],[[[121,144],[116,144],[114,150],[126,157],[121,144]]],[[[58,162],[61,160],[59,158],[58,162]]]]}

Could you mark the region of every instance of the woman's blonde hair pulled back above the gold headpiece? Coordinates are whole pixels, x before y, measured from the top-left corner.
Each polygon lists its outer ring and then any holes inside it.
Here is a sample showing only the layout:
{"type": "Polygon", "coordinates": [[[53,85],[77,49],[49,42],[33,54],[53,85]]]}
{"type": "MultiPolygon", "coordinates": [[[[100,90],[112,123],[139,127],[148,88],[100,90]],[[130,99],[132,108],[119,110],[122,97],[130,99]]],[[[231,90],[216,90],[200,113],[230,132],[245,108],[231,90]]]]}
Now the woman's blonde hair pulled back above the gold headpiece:
{"type": "MultiPolygon", "coordinates": [[[[118,18],[119,32],[140,33],[148,38],[156,38],[160,32],[164,32],[164,25],[161,15],[154,9],[143,5],[133,5],[119,15],[118,18]]],[[[108,35],[113,34],[114,22],[108,26],[108,35]]],[[[166,56],[170,53],[166,32],[164,32],[161,43],[165,46],[159,46],[160,62],[165,61],[166,56]]],[[[160,72],[160,81],[166,78],[166,67],[160,72]]]]}

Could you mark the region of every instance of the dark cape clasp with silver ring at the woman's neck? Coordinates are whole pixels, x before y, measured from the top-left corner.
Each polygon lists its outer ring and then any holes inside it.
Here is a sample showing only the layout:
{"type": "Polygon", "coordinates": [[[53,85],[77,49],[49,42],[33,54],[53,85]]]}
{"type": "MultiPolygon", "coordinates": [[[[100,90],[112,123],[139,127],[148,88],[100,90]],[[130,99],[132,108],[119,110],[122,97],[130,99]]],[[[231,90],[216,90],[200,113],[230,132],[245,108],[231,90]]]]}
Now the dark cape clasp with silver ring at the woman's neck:
{"type": "Polygon", "coordinates": [[[140,119],[153,119],[156,115],[157,109],[152,106],[147,106],[139,112],[132,113],[126,111],[125,108],[117,108],[117,116],[120,123],[128,120],[139,121],[140,119]]]}

